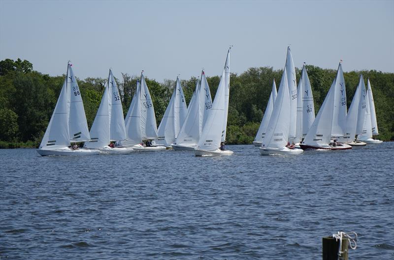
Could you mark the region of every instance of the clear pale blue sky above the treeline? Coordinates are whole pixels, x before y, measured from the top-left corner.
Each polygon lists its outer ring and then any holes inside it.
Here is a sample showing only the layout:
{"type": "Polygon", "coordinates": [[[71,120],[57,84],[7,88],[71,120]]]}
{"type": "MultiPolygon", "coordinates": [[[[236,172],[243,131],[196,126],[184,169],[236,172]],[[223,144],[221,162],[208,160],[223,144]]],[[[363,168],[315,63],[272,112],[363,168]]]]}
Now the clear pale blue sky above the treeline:
{"type": "Polygon", "coordinates": [[[296,67],[394,72],[394,0],[0,0],[0,59],[53,76],[219,75],[229,45],[231,72],[279,69],[289,44],[296,67]]]}

